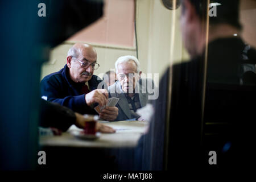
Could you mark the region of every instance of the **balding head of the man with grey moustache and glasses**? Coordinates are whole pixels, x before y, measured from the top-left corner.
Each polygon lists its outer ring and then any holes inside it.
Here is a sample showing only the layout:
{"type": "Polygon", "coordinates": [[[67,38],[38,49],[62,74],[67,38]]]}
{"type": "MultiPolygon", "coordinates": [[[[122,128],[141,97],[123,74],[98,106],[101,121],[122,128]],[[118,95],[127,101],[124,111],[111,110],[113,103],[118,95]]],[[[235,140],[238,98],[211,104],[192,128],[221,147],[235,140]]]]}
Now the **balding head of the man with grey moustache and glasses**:
{"type": "Polygon", "coordinates": [[[68,51],[67,65],[74,82],[84,83],[92,78],[98,67],[96,50],[89,44],[76,43],[68,51]]]}

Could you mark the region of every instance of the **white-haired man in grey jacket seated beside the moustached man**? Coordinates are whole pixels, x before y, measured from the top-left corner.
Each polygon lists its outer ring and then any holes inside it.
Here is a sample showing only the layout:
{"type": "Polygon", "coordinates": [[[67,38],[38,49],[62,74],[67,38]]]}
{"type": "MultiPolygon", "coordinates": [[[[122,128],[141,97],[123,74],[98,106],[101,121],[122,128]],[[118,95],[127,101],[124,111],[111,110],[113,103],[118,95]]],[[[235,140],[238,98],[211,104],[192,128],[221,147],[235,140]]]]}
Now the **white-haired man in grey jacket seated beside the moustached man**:
{"type": "Polygon", "coordinates": [[[144,120],[136,111],[147,104],[148,89],[154,89],[154,83],[149,79],[141,79],[140,63],[134,56],[119,57],[115,62],[115,72],[118,81],[109,86],[110,96],[119,98],[119,114],[115,120],[144,120]],[[146,87],[148,82],[151,82],[149,88],[146,87]]]}

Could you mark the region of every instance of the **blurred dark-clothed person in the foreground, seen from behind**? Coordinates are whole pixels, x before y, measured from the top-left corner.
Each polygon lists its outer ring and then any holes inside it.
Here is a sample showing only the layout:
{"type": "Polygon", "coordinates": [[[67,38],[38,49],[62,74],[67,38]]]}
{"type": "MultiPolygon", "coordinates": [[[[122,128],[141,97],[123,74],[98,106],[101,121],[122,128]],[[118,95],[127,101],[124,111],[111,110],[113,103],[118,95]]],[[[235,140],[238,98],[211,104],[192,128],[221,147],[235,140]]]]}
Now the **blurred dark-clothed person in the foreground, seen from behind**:
{"type": "Polygon", "coordinates": [[[250,163],[255,151],[250,130],[254,128],[256,53],[240,37],[239,5],[238,0],[210,1],[217,16],[209,17],[207,32],[208,2],[182,1],[181,33],[191,60],[172,65],[160,80],[150,130],[137,148],[142,159],[138,169],[231,169],[250,163]],[[226,97],[219,94],[224,91],[229,93],[226,97]],[[211,139],[204,133],[209,121],[226,122],[228,127],[222,131],[221,126],[212,127],[213,134],[222,135],[210,135],[211,139]],[[209,149],[216,151],[217,165],[209,164],[209,149]]]}

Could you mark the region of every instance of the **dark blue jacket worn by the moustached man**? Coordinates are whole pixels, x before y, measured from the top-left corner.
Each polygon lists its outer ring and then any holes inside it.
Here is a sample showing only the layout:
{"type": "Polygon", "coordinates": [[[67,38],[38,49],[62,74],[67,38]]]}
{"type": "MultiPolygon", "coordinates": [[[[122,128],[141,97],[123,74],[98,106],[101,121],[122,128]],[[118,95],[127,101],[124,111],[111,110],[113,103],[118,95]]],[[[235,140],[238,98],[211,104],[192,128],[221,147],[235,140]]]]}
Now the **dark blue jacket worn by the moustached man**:
{"type": "MultiPolygon", "coordinates": [[[[97,89],[102,80],[93,75],[88,81],[90,90],[97,89]]],[[[81,114],[97,114],[92,107],[85,102],[85,94],[80,94],[81,84],[77,84],[69,77],[67,64],[59,72],[51,73],[43,78],[40,84],[41,96],[47,97],[47,101],[56,102],[69,107],[81,114]]]]}

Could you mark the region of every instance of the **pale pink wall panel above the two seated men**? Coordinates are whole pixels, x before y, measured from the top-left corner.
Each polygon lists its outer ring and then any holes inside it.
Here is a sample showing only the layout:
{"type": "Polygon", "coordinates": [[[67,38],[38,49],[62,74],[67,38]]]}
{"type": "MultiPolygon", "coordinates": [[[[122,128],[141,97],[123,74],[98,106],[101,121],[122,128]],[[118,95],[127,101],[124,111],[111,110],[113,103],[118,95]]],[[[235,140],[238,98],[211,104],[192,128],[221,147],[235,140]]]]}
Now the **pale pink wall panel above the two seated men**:
{"type": "Polygon", "coordinates": [[[68,41],[134,47],[134,0],[105,0],[104,15],[68,41]]]}

